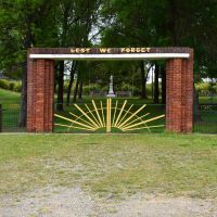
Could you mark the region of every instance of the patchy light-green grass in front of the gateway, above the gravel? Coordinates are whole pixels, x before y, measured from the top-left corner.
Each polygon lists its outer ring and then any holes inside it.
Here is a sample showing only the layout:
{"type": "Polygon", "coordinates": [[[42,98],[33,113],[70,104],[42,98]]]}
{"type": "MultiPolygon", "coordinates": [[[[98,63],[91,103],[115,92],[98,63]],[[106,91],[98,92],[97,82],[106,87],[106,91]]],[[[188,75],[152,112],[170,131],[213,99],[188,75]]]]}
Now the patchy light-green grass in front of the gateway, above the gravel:
{"type": "Polygon", "coordinates": [[[0,135],[0,194],[47,186],[217,197],[217,136],[0,135]]]}

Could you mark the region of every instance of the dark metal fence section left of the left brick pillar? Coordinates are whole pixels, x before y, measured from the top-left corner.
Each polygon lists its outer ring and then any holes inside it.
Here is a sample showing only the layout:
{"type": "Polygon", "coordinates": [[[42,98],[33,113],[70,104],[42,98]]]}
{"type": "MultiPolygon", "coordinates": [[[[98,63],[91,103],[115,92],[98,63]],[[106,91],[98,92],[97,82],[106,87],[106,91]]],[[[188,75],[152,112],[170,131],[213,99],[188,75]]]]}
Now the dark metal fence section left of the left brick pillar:
{"type": "Polygon", "coordinates": [[[18,127],[20,104],[0,104],[0,132],[23,132],[25,127],[18,127]]]}

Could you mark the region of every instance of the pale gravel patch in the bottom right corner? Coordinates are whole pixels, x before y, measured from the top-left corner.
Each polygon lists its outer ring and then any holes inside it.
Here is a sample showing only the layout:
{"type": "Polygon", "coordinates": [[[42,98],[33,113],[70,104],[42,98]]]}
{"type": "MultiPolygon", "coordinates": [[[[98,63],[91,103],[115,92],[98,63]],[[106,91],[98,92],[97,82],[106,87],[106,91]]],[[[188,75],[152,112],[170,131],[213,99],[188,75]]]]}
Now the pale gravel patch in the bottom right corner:
{"type": "Polygon", "coordinates": [[[110,217],[216,217],[217,203],[212,200],[166,197],[137,194],[111,206],[110,217]]]}

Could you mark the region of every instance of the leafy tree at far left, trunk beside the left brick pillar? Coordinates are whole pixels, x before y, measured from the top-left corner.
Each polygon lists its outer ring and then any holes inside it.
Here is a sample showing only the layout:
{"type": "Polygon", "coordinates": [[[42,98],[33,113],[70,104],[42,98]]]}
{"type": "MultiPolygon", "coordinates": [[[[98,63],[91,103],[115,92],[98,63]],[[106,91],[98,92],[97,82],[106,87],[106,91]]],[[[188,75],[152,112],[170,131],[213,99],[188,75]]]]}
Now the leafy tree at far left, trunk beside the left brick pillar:
{"type": "Polygon", "coordinates": [[[1,68],[22,74],[20,126],[26,124],[27,110],[27,50],[35,44],[41,17],[48,18],[51,3],[46,0],[1,0],[0,35],[1,68]],[[13,53],[13,55],[11,55],[13,53]]]}

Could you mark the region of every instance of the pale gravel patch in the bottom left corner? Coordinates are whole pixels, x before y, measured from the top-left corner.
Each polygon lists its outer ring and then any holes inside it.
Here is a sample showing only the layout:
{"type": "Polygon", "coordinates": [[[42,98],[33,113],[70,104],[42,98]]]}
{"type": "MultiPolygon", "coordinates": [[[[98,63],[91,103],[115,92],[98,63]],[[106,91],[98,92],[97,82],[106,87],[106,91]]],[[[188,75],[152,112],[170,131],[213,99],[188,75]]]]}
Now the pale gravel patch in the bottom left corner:
{"type": "Polygon", "coordinates": [[[79,188],[46,188],[22,196],[1,199],[1,217],[88,216],[93,210],[91,197],[79,188]]]}

